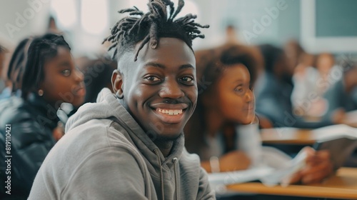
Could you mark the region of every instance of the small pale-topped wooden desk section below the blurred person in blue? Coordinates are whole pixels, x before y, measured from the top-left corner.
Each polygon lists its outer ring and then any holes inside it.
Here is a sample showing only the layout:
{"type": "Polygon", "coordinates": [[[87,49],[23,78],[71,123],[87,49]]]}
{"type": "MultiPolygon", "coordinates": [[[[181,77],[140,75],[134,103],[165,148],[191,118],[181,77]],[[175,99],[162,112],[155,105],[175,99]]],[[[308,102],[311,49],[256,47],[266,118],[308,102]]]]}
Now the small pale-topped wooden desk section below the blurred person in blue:
{"type": "Polygon", "coordinates": [[[295,128],[262,129],[261,141],[264,144],[311,145],[316,141],[313,131],[295,128]]]}

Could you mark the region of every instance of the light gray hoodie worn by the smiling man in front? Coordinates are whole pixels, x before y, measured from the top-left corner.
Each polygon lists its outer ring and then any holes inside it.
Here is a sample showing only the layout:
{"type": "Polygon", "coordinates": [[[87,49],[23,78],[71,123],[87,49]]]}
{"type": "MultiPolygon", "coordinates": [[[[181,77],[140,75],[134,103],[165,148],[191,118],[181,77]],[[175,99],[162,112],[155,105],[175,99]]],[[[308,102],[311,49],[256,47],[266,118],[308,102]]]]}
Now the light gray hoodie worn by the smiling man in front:
{"type": "Polygon", "coordinates": [[[71,116],[29,199],[215,199],[183,134],[165,158],[109,89],[97,102],[71,116]]]}

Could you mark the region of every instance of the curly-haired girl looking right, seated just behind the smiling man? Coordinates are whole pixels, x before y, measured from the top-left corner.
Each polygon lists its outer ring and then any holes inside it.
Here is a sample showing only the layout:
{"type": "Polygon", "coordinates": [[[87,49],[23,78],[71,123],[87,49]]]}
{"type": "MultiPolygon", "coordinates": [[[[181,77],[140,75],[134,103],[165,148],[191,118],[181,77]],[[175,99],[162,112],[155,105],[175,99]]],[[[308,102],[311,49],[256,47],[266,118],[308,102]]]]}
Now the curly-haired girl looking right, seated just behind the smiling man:
{"type": "MultiPolygon", "coordinates": [[[[198,84],[196,111],[185,126],[186,149],[201,158],[206,171],[234,171],[258,166],[263,162],[254,109],[253,82],[257,63],[246,46],[231,46],[200,64],[197,58],[198,84]],[[218,158],[216,166],[212,158],[218,158]]],[[[291,183],[321,181],[331,174],[332,165],[326,151],[306,148],[306,167],[291,176],[291,183]]],[[[276,154],[282,154],[275,150],[276,154]]],[[[267,160],[268,161],[268,160],[267,160]]],[[[270,166],[274,163],[268,161],[270,166]]]]}

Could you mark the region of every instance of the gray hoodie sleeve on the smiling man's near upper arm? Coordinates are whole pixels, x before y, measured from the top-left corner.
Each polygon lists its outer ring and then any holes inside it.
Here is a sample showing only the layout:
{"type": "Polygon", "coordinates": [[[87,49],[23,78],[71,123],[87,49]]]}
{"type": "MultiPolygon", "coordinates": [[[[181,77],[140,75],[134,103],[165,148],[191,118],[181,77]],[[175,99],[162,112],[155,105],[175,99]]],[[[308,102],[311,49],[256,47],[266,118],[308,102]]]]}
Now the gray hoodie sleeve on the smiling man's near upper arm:
{"type": "Polygon", "coordinates": [[[74,172],[61,199],[147,199],[143,176],[128,150],[101,149],[74,172]]]}

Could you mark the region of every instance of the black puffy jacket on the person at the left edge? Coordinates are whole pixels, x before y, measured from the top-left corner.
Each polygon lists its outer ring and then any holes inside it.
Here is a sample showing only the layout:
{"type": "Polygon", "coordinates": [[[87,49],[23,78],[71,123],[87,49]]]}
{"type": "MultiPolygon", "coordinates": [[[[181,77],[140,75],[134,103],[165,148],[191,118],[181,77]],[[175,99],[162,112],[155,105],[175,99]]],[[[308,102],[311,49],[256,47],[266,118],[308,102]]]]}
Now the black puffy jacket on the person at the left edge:
{"type": "Polygon", "coordinates": [[[15,96],[0,101],[0,199],[27,199],[37,171],[56,143],[52,131],[58,121],[54,108],[36,94],[26,101],[15,96]],[[11,174],[5,173],[6,124],[11,127],[11,174]],[[5,194],[7,176],[11,195],[5,194]]]}

